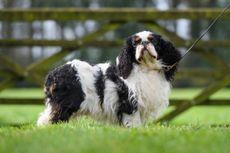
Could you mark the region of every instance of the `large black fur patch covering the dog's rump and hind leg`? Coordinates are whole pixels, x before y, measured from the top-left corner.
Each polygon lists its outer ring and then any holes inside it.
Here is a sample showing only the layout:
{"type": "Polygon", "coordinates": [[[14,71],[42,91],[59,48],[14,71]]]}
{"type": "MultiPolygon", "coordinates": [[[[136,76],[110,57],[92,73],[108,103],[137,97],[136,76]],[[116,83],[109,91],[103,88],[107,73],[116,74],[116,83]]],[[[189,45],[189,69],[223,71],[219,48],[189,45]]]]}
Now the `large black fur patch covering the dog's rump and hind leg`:
{"type": "Polygon", "coordinates": [[[68,121],[84,101],[85,94],[77,74],[71,65],[65,64],[47,75],[45,94],[52,106],[52,123],[68,121]]]}

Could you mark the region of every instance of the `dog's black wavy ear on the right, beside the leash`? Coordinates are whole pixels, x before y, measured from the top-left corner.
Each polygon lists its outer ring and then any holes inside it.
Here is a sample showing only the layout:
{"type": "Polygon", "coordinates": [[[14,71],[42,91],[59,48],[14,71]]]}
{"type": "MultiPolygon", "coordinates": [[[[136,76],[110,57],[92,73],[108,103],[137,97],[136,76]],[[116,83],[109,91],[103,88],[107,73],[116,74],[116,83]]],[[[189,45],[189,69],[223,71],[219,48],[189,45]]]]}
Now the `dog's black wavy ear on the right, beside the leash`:
{"type": "MultiPolygon", "coordinates": [[[[156,50],[163,64],[172,65],[181,59],[180,51],[177,50],[170,41],[164,40],[160,36],[158,36],[158,41],[159,42],[156,45],[156,50]]],[[[176,70],[177,65],[174,66],[172,69],[165,71],[166,79],[171,81],[174,77],[176,70]]]]}

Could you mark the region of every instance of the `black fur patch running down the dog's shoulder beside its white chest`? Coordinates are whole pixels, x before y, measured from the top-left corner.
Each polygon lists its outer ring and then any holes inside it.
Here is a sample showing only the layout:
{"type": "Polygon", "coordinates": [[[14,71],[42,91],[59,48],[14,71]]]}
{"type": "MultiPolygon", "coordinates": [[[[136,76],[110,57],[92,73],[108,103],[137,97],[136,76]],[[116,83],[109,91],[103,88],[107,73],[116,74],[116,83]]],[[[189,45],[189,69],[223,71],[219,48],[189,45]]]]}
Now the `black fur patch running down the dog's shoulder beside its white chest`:
{"type": "Polygon", "coordinates": [[[117,86],[117,93],[119,97],[117,117],[118,121],[121,123],[123,113],[132,114],[133,112],[137,111],[137,99],[134,93],[130,91],[124,81],[119,77],[115,66],[110,66],[107,69],[106,76],[117,86]]]}

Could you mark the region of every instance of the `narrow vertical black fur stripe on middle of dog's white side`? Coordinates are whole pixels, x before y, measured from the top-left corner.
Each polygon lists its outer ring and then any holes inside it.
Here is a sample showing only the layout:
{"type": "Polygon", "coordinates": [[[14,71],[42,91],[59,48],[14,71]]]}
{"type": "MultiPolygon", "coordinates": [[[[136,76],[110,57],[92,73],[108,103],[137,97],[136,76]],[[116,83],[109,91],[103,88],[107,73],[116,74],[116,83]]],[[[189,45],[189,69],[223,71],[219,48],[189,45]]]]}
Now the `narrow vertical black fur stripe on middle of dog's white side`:
{"type": "Polygon", "coordinates": [[[95,88],[97,95],[100,99],[100,106],[101,109],[103,110],[103,102],[104,102],[104,90],[105,90],[105,77],[101,71],[101,69],[98,71],[98,74],[95,76],[95,88]]]}

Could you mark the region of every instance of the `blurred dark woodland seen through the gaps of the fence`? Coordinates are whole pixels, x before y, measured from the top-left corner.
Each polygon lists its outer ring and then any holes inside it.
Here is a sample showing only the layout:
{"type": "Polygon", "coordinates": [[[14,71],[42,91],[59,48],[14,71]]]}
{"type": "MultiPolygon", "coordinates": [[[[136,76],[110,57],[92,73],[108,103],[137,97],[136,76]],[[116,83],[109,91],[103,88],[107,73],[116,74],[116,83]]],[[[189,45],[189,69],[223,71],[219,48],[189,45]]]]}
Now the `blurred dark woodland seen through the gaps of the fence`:
{"type": "MultiPolygon", "coordinates": [[[[0,0],[0,8],[54,8],[54,7],[83,7],[83,8],[106,8],[106,7],[136,7],[136,8],[155,8],[159,10],[167,9],[187,9],[187,8],[223,8],[230,2],[229,0],[0,0]]],[[[111,17],[112,18],[112,17],[111,17]]],[[[157,20],[158,24],[168,30],[177,33],[184,39],[196,39],[203,30],[210,24],[208,20],[157,20]]],[[[67,21],[58,22],[53,20],[33,21],[33,22],[7,22],[0,21],[0,39],[35,39],[35,40],[76,40],[88,33],[98,29],[104,21],[67,21]]],[[[225,40],[230,37],[229,20],[218,22],[203,40],[225,40]]],[[[106,33],[105,40],[124,40],[126,37],[145,30],[145,27],[137,22],[127,22],[115,31],[106,33]]],[[[163,36],[164,37],[164,36],[163,36]]],[[[173,42],[173,40],[171,40],[173,42]]],[[[60,65],[71,59],[86,60],[92,64],[106,61],[115,61],[120,52],[120,47],[82,47],[63,58],[56,65],[60,65]]],[[[60,47],[4,47],[0,46],[0,52],[9,56],[11,59],[23,67],[36,62],[40,59],[51,56],[59,51],[60,47]]],[[[182,52],[185,48],[178,48],[182,52]]],[[[230,59],[229,48],[215,47],[209,48],[215,56],[228,62],[230,59]]],[[[211,68],[212,66],[190,53],[181,62],[180,68],[211,68]]],[[[187,77],[177,78],[175,87],[201,87],[212,82],[212,79],[187,77]]],[[[22,81],[16,87],[35,87],[33,83],[22,81]]]]}

